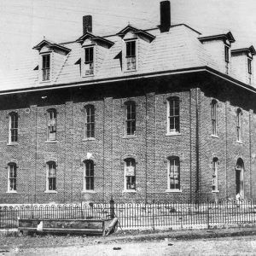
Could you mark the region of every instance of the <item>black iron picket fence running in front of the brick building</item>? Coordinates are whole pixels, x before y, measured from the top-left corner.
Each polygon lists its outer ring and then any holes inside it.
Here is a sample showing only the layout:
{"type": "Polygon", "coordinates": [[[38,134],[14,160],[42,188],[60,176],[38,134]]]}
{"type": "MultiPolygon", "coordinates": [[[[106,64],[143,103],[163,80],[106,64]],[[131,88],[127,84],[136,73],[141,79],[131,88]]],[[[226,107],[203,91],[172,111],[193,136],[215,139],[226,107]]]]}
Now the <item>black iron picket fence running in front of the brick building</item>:
{"type": "Polygon", "coordinates": [[[0,229],[18,226],[18,218],[119,218],[124,229],[170,227],[210,228],[218,224],[256,224],[256,202],[165,202],[111,203],[79,205],[26,205],[0,207],[0,229]]]}

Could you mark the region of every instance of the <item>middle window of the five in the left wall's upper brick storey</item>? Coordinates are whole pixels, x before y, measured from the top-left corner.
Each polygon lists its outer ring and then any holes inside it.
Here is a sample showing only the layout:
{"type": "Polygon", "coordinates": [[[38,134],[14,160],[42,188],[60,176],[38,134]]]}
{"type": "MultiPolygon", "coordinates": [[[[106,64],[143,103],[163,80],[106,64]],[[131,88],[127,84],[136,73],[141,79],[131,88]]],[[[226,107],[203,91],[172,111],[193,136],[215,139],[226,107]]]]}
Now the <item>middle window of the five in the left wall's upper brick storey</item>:
{"type": "Polygon", "coordinates": [[[84,138],[95,137],[95,108],[93,105],[84,107],[84,138]]]}

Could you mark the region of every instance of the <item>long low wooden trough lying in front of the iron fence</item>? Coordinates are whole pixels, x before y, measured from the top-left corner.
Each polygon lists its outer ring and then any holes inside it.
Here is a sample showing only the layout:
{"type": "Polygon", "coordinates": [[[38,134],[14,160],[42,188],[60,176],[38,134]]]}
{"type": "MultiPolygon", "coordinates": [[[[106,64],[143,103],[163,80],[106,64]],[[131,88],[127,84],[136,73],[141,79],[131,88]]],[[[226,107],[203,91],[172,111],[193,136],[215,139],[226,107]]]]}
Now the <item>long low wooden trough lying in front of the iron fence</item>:
{"type": "MultiPolygon", "coordinates": [[[[114,228],[114,219],[44,219],[20,218],[18,230],[28,233],[79,233],[82,235],[102,235],[114,228]]],[[[117,223],[117,218],[116,221],[117,223]]]]}

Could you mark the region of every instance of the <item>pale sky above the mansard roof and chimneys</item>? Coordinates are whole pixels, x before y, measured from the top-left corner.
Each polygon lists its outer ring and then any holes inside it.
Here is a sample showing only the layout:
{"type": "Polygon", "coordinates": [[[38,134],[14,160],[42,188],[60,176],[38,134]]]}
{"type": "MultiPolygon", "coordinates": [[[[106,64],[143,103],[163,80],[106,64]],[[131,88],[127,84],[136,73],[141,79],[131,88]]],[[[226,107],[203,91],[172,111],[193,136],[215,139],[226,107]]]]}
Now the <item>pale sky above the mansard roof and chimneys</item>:
{"type": "MultiPolygon", "coordinates": [[[[172,25],[185,23],[205,35],[231,31],[235,48],[256,48],[255,14],[255,0],[171,0],[172,25]]],[[[160,24],[160,0],[0,0],[0,78],[38,54],[32,47],[44,37],[55,43],[79,38],[83,15],[92,15],[97,36],[129,23],[146,29],[160,24]]]]}

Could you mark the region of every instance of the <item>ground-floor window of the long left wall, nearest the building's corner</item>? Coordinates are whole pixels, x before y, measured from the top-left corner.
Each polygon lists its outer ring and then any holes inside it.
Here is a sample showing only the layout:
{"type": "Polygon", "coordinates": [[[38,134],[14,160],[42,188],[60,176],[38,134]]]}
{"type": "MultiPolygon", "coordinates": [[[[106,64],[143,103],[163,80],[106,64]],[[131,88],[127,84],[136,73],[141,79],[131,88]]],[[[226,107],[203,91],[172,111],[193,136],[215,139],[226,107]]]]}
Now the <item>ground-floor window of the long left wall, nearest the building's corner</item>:
{"type": "Polygon", "coordinates": [[[178,157],[172,157],[168,166],[169,188],[180,190],[180,162],[178,157]]]}

